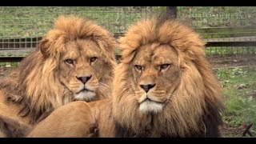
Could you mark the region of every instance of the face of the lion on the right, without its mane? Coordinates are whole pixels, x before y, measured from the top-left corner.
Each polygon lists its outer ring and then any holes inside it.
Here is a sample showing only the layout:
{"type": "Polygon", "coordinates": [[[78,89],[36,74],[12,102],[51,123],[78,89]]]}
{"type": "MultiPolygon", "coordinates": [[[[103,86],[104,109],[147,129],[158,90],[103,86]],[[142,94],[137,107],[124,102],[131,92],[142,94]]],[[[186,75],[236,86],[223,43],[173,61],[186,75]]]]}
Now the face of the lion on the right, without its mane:
{"type": "Polygon", "coordinates": [[[161,112],[180,82],[178,55],[168,45],[139,48],[132,63],[133,89],[143,113],[161,112]]]}

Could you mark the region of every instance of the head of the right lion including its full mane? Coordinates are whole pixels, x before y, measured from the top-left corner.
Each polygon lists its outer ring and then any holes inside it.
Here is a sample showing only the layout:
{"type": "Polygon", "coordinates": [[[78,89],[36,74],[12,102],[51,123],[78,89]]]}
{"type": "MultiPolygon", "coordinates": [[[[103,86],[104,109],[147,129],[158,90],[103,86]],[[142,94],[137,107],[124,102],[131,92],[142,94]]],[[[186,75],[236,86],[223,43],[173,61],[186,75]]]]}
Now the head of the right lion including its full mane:
{"type": "Polygon", "coordinates": [[[122,130],[146,137],[205,132],[222,98],[200,36],[174,19],[147,18],[118,41],[112,99],[122,130]]]}

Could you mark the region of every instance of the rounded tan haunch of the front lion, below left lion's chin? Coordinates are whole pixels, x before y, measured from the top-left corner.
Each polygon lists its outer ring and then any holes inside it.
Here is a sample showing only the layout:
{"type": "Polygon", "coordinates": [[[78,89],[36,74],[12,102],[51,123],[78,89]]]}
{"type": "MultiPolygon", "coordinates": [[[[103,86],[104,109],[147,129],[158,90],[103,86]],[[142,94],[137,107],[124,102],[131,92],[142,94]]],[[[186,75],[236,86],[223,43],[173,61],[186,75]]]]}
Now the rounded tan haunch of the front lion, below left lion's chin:
{"type": "Polygon", "coordinates": [[[86,102],[71,102],[39,122],[28,138],[94,137],[98,125],[86,102]]]}

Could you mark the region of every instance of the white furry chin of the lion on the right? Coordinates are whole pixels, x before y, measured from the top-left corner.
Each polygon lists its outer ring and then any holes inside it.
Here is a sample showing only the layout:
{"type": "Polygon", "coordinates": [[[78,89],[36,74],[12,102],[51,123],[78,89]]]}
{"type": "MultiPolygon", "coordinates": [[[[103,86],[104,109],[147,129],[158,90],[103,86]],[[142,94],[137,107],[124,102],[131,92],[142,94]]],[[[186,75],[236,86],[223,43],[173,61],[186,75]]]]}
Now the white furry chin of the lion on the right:
{"type": "Polygon", "coordinates": [[[158,114],[163,109],[163,103],[146,100],[139,105],[139,110],[142,113],[158,114]]]}

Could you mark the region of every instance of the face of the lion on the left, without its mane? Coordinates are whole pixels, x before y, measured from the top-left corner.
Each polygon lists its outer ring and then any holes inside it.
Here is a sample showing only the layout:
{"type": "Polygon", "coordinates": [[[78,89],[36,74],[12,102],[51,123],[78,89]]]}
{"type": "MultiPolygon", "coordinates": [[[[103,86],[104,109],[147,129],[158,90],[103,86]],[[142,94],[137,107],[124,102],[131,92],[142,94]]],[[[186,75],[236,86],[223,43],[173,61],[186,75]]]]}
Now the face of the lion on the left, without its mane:
{"type": "Polygon", "coordinates": [[[59,61],[60,81],[74,94],[75,100],[94,99],[105,76],[106,63],[100,48],[91,40],[74,40],[65,47],[59,61]]]}

